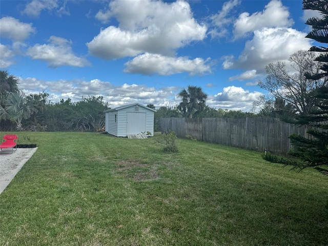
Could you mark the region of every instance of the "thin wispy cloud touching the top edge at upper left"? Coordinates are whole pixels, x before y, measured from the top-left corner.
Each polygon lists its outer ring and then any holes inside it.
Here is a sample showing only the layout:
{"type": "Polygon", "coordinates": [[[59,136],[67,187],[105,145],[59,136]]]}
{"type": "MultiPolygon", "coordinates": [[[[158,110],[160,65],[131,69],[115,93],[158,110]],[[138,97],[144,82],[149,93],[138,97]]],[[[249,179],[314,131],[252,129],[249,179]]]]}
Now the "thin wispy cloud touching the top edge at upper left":
{"type": "Polygon", "coordinates": [[[69,15],[69,10],[66,6],[66,1],[57,1],[57,0],[33,0],[28,3],[23,10],[23,14],[26,14],[30,17],[37,18],[39,17],[41,11],[43,10],[57,10],[57,14],[61,15],[69,15]],[[58,3],[63,3],[62,6],[59,6],[58,3]]]}

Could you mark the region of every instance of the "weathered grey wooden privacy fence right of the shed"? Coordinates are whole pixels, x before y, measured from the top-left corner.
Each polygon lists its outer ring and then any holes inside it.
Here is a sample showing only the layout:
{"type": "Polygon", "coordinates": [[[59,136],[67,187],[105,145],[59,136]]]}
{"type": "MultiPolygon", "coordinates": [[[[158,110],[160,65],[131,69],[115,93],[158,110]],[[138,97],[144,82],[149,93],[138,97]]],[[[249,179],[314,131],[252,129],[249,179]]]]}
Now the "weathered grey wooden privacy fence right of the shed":
{"type": "Polygon", "coordinates": [[[290,150],[292,133],[310,138],[305,126],[294,126],[277,118],[161,118],[161,132],[172,130],[177,137],[187,135],[220,145],[269,151],[285,155],[290,150]]]}

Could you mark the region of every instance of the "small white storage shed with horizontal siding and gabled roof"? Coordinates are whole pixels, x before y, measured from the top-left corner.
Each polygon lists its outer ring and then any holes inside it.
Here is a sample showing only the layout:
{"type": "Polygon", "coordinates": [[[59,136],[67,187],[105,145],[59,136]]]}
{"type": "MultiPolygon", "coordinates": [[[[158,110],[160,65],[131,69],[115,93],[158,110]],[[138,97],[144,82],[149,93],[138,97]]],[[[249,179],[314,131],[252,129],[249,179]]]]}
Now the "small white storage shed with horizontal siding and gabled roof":
{"type": "Polygon", "coordinates": [[[154,112],[141,104],[130,104],[105,111],[105,131],[117,137],[144,132],[154,135],[154,112]]]}

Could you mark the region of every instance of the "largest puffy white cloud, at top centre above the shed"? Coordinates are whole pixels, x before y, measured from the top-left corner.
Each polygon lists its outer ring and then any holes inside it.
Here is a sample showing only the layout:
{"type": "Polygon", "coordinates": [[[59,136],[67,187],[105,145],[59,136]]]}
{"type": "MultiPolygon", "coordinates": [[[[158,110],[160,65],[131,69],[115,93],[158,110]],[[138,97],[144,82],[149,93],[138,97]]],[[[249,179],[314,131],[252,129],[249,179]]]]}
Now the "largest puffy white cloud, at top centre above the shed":
{"type": "Polygon", "coordinates": [[[96,17],[103,22],[115,17],[110,26],[87,43],[92,55],[104,59],[153,53],[172,56],[175,50],[206,37],[207,27],[199,25],[187,2],[112,1],[96,17]]]}

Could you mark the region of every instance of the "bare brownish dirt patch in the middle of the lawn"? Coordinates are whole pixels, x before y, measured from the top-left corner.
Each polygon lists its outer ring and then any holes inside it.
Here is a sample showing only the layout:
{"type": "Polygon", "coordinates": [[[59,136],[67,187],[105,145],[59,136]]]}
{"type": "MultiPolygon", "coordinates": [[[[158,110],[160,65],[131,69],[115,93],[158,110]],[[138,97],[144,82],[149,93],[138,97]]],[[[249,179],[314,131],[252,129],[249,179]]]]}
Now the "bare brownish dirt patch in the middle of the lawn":
{"type": "Polygon", "coordinates": [[[148,165],[137,160],[117,161],[116,172],[135,181],[149,181],[158,178],[156,165],[148,165]]]}

